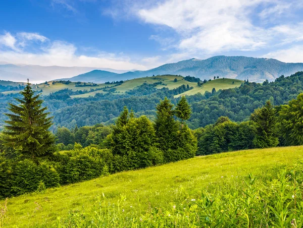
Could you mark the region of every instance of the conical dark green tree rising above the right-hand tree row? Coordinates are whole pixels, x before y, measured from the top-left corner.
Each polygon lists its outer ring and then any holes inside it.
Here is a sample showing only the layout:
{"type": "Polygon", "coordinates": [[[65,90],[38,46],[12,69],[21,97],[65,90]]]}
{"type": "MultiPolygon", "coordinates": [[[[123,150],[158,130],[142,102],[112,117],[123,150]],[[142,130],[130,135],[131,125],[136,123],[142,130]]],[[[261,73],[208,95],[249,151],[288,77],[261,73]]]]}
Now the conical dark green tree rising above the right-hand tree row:
{"type": "Polygon", "coordinates": [[[270,100],[261,109],[256,109],[250,119],[256,124],[254,144],[257,148],[275,147],[277,137],[277,118],[275,109],[270,100]]]}

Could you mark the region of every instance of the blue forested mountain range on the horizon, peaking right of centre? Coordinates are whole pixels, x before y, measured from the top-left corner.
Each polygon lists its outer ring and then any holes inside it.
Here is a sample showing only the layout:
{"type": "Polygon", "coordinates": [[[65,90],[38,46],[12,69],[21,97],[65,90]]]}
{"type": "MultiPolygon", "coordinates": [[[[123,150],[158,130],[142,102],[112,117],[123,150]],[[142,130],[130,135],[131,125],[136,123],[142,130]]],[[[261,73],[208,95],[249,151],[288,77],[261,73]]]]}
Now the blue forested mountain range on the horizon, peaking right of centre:
{"type": "Polygon", "coordinates": [[[104,83],[107,81],[172,74],[190,75],[199,77],[202,80],[219,76],[220,78],[249,79],[249,81],[263,82],[266,79],[274,81],[275,78],[281,75],[289,76],[298,71],[303,71],[303,63],[283,63],[275,59],[221,55],[206,60],[190,59],[178,63],[165,64],[147,71],[125,72],[122,74],[94,70],[69,78],[69,80],[104,83]]]}

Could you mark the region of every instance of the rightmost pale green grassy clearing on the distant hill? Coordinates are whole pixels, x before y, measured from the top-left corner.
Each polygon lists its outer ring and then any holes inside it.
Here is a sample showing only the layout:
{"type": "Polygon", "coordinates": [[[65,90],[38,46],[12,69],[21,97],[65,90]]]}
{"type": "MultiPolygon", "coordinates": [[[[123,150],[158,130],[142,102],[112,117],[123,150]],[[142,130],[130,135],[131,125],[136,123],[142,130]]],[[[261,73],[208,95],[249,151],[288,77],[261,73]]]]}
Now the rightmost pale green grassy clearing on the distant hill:
{"type": "Polygon", "coordinates": [[[196,93],[204,94],[206,91],[212,92],[213,88],[218,91],[219,89],[230,89],[239,87],[244,81],[237,80],[237,79],[230,79],[230,78],[220,78],[216,80],[209,81],[202,86],[198,86],[196,83],[193,86],[193,89],[188,90],[184,93],[178,94],[175,97],[184,96],[184,95],[193,95],[196,93]],[[232,84],[234,82],[234,84],[232,84]]]}

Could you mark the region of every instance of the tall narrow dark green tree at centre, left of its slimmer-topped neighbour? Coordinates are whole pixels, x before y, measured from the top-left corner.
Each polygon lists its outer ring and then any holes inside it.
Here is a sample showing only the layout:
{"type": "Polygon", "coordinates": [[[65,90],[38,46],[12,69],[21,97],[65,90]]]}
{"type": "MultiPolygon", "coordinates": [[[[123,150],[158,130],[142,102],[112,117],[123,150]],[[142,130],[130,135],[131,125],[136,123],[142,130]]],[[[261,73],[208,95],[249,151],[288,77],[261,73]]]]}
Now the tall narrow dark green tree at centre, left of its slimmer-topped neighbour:
{"type": "Polygon", "coordinates": [[[159,147],[164,151],[172,149],[175,145],[178,131],[178,123],[174,119],[174,105],[167,97],[157,105],[157,115],[155,120],[156,136],[159,147]]]}

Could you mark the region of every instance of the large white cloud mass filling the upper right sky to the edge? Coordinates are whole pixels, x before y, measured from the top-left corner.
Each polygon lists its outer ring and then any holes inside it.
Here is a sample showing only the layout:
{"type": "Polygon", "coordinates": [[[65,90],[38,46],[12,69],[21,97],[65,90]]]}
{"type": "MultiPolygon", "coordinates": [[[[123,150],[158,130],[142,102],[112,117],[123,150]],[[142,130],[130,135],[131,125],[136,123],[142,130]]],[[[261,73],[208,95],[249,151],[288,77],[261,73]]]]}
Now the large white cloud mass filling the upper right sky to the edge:
{"type": "MultiPolygon", "coordinates": [[[[167,0],[152,7],[141,8],[138,17],[145,23],[167,26],[174,29],[180,40],[177,49],[204,55],[224,51],[256,51],[267,45],[283,44],[302,39],[302,18],[296,24],[257,25],[262,21],[278,18],[296,7],[301,0],[288,2],[277,0],[167,0]],[[264,8],[261,13],[260,8],[264,8]]],[[[291,13],[288,14],[291,17],[291,13]]],[[[283,15],[285,16],[285,15],[283,15]]],[[[161,38],[155,35],[160,43],[161,38]]]]}

